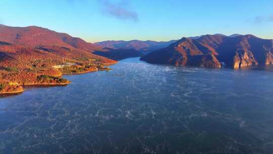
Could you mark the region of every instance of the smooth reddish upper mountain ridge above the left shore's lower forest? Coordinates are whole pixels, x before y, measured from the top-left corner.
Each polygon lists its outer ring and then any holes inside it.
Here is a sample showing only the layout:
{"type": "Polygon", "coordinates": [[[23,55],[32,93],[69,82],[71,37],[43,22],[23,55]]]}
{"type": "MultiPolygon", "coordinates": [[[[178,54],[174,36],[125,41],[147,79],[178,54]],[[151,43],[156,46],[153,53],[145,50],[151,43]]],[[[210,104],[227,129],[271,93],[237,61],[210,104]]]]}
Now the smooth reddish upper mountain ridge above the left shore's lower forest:
{"type": "Polygon", "coordinates": [[[10,27],[0,25],[0,40],[31,47],[55,45],[67,48],[79,48],[86,51],[100,49],[100,47],[93,45],[92,43],[87,43],[81,38],[72,37],[66,33],[60,33],[37,26],[10,27]]]}

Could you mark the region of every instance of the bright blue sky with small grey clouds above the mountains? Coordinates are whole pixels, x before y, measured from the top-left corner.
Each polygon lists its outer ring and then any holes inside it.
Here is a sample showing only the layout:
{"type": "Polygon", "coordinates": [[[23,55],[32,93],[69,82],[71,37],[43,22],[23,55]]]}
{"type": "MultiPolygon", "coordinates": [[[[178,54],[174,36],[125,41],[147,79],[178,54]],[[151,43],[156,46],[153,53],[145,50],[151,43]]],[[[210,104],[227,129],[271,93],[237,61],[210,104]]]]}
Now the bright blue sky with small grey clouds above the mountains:
{"type": "Polygon", "coordinates": [[[81,37],[169,41],[202,34],[273,38],[272,0],[1,0],[0,23],[81,37]]]}

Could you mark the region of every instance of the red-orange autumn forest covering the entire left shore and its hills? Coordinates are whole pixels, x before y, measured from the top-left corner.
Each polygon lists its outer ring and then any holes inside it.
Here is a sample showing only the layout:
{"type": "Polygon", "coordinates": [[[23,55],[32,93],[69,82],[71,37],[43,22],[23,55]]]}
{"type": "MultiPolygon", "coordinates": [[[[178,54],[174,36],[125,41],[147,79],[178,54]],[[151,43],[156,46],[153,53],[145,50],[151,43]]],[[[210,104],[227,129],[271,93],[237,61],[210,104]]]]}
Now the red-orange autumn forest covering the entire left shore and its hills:
{"type": "Polygon", "coordinates": [[[22,92],[24,85],[69,84],[62,74],[105,70],[116,63],[93,54],[100,50],[101,46],[46,28],[0,25],[0,93],[22,92]]]}

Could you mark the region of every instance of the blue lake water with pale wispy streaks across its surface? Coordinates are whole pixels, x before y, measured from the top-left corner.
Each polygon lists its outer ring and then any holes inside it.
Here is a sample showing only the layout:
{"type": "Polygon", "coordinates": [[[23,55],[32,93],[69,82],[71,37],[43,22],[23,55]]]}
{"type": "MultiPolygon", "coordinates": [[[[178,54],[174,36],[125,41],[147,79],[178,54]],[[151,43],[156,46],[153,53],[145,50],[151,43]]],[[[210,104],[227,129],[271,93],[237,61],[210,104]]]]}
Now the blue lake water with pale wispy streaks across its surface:
{"type": "Polygon", "coordinates": [[[273,69],[111,67],[0,98],[0,153],[273,151],[273,69]]]}

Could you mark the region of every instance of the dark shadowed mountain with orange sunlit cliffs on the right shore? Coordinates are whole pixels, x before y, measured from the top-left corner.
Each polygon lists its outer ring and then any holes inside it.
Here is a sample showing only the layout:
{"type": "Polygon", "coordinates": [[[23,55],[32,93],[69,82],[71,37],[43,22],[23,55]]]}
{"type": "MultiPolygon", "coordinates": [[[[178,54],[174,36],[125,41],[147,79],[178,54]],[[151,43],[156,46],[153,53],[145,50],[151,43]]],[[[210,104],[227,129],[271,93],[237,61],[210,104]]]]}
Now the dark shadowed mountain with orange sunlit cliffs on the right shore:
{"type": "Polygon", "coordinates": [[[149,63],[241,68],[273,64],[273,41],[254,35],[222,34],[186,38],[141,58],[149,63]]]}

